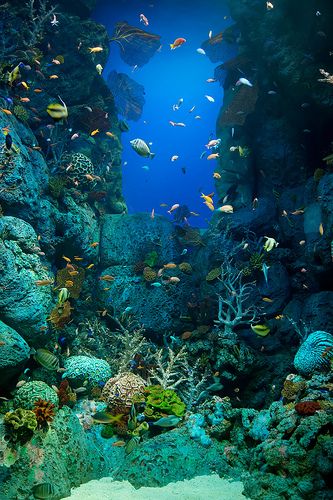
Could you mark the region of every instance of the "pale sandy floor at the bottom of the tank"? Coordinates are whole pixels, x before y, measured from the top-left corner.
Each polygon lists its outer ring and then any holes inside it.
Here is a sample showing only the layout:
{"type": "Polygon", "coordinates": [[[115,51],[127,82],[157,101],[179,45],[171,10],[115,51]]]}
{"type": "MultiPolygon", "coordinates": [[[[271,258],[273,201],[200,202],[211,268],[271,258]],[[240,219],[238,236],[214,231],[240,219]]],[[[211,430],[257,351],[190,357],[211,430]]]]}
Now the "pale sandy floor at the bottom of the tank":
{"type": "MultiPolygon", "coordinates": [[[[169,483],[163,488],[139,488],[128,481],[104,477],[72,490],[70,500],[244,500],[243,484],[229,482],[218,475],[197,476],[191,480],[169,483]]],[[[65,499],[66,500],[66,499],[65,499]]]]}

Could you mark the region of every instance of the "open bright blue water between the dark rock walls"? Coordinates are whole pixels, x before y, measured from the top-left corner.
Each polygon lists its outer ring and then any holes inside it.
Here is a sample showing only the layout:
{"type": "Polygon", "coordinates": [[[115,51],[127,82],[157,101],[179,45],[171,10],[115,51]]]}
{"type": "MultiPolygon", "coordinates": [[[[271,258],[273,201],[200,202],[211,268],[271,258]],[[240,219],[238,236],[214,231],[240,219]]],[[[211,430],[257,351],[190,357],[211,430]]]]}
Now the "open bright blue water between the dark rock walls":
{"type": "MultiPolygon", "coordinates": [[[[129,122],[130,131],[122,135],[123,193],[129,212],[151,212],[154,208],[155,213],[166,214],[167,209],[160,207],[161,203],[186,204],[200,214],[191,217],[191,225],[205,227],[211,212],[203,205],[200,193],[214,191],[213,172],[217,165],[215,160],[200,160],[200,155],[209,137],[215,138],[223,89],[218,82],[206,82],[214,76],[214,68],[220,63],[211,63],[196,49],[208,39],[210,30],[214,35],[231,24],[227,7],[223,8],[223,2],[217,0],[101,0],[93,17],[107,27],[110,35],[114,24],[122,20],[161,35],[161,51],[135,71],[121,60],[119,45],[111,43],[109,61],[103,72],[107,78],[115,69],[145,87],[142,117],[137,122],[129,122]],[[149,20],[147,28],[139,22],[141,13],[149,20]],[[228,18],[223,19],[224,16],[228,18]],[[187,42],[170,50],[169,44],[178,37],[187,42]],[[209,102],[206,94],[215,102],[209,102]],[[178,111],[173,111],[172,105],[179,98],[184,102],[178,111]],[[192,106],[195,110],[189,113],[192,106]],[[195,119],[196,115],[201,119],[195,119]],[[169,120],[183,122],[186,127],[172,127],[169,120]],[[129,141],[137,137],[152,142],[151,150],[156,153],[153,160],[133,151],[129,141]],[[170,161],[173,155],[179,156],[175,162],[170,161]],[[149,170],[143,169],[144,166],[149,170]]],[[[230,57],[233,55],[230,48],[230,57]]]]}

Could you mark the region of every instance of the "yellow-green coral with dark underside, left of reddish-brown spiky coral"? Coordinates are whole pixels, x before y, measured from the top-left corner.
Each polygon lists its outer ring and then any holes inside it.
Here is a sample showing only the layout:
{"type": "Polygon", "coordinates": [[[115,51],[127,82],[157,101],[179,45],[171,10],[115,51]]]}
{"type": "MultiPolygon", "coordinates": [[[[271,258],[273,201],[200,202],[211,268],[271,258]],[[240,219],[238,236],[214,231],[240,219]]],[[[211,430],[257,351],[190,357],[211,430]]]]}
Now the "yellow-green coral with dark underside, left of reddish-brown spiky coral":
{"type": "Polygon", "coordinates": [[[27,442],[37,429],[36,415],[31,410],[17,408],[6,413],[4,423],[10,431],[12,441],[27,442]]]}

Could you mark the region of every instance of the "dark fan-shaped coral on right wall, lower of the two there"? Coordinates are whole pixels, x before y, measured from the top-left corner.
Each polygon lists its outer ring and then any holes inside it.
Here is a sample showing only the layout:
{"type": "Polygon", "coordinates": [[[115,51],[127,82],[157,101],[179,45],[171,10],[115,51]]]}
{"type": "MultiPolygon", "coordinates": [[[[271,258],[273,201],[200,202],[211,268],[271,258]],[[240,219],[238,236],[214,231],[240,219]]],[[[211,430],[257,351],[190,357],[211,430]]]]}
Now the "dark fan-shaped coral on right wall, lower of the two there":
{"type": "Polygon", "coordinates": [[[246,117],[254,111],[258,99],[258,86],[241,85],[223,109],[219,119],[219,127],[235,127],[244,125],[246,117]]]}

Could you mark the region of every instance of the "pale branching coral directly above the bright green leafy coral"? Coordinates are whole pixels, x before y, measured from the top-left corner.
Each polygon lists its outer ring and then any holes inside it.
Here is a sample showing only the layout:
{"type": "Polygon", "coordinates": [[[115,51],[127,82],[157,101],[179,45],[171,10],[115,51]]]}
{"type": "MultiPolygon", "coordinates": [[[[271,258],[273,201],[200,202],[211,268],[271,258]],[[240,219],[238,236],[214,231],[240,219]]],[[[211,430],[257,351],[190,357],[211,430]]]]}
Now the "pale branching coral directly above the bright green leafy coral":
{"type": "Polygon", "coordinates": [[[170,347],[160,349],[154,356],[154,368],[150,370],[150,379],[163,389],[175,389],[188,379],[187,351],[183,346],[175,353],[170,347]]]}

